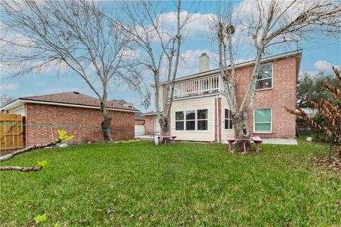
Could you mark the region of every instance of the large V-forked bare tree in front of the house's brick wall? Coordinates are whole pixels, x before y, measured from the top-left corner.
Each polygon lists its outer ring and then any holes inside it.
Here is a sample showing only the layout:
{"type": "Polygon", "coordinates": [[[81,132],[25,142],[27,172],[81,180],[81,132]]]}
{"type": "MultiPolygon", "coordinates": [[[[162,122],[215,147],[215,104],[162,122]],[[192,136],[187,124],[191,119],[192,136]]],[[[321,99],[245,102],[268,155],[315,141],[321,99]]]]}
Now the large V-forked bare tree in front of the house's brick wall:
{"type": "Polygon", "coordinates": [[[248,119],[254,106],[261,57],[274,45],[288,44],[315,35],[340,34],[341,6],[337,1],[256,1],[247,9],[218,4],[210,18],[219,52],[219,67],[237,138],[249,138],[248,119]],[[249,45],[254,66],[249,85],[237,101],[236,63],[242,45],[249,45]]]}

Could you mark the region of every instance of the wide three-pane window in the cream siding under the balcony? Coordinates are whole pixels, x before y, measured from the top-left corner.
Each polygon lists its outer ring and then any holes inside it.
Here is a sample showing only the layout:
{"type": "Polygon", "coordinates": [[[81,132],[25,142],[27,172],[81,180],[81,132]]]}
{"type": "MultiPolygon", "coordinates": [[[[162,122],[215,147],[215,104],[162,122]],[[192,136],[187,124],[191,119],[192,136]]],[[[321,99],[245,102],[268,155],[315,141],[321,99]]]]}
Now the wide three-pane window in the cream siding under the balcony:
{"type": "Polygon", "coordinates": [[[193,131],[207,129],[208,129],[207,109],[175,112],[176,131],[182,130],[193,131]]]}

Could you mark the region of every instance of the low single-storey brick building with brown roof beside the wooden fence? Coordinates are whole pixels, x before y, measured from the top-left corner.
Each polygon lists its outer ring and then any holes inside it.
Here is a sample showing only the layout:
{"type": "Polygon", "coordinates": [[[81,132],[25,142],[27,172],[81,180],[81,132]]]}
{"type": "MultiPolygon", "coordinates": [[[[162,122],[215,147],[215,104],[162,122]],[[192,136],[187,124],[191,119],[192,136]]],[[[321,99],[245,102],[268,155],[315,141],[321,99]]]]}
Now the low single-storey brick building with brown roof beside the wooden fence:
{"type": "MultiPolygon", "coordinates": [[[[134,114],[139,112],[132,106],[108,101],[112,114],[111,130],[114,140],[134,138],[134,114]]],[[[26,146],[48,143],[58,138],[58,129],[65,129],[75,135],[73,141],[103,141],[100,131],[102,114],[99,99],[78,92],[21,97],[3,106],[2,111],[21,114],[26,118],[26,146]],[[62,126],[62,127],[59,127],[62,126]],[[65,126],[65,127],[63,127],[65,126]]]]}

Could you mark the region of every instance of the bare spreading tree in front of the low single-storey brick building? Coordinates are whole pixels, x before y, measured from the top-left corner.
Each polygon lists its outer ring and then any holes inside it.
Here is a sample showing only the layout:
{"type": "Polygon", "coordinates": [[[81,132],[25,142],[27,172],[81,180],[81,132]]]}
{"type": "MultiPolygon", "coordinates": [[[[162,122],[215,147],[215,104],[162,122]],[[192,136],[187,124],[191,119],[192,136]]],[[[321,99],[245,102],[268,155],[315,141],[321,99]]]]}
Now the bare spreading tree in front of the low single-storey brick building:
{"type": "Polygon", "coordinates": [[[100,100],[104,140],[111,141],[112,116],[107,109],[110,82],[126,84],[139,93],[145,87],[131,61],[126,33],[108,20],[102,4],[5,0],[1,1],[1,13],[1,63],[20,69],[12,76],[51,67],[58,74],[76,72],[100,100]]]}

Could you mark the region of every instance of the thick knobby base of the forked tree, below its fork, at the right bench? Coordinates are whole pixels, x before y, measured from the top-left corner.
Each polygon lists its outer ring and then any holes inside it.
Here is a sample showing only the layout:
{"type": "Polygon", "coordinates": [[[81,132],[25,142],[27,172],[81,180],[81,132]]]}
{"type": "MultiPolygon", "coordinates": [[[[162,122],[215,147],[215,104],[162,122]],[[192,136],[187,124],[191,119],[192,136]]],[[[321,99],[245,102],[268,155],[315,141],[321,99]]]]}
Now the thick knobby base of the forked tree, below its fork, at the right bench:
{"type": "MultiPolygon", "coordinates": [[[[237,114],[236,114],[237,115],[237,114]]],[[[245,113],[238,114],[237,117],[232,118],[233,127],[234,127],[234,137],[237,138],[237,151],[244,152],[244,143],[242,139],[249,139],[249,127],[247,121],[249,116],[245,113]]],[[[251,150],[250,141],[247,140],[245,143],[245,150],[251,150]]]]}

